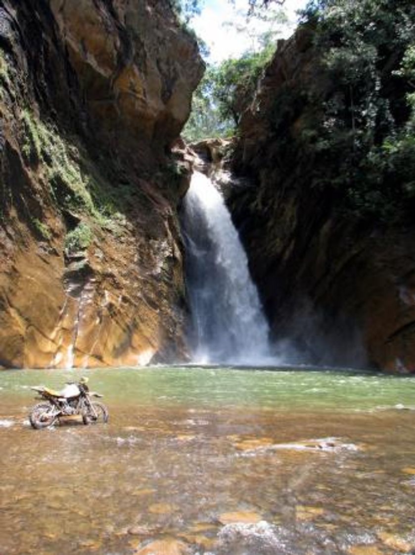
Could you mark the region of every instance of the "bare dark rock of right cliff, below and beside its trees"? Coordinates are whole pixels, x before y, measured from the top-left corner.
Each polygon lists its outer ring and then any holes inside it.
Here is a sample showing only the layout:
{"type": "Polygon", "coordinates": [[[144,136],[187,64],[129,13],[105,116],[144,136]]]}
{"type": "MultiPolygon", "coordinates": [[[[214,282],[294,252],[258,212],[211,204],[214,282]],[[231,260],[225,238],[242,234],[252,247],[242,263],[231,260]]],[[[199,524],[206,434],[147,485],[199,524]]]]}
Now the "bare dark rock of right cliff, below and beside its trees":
{"type": "Polygon", "coordinates": [[[252,185],[234,189],[230,208],[275,338],[294,339],[308,362],[414,371],[412,226],[342,214],[336,192],[312,184],[324,160],[298,140],[318,117],[310,99],[329,102],[333,89],[312,29],[279,43],[233,158],[252,185]]]}

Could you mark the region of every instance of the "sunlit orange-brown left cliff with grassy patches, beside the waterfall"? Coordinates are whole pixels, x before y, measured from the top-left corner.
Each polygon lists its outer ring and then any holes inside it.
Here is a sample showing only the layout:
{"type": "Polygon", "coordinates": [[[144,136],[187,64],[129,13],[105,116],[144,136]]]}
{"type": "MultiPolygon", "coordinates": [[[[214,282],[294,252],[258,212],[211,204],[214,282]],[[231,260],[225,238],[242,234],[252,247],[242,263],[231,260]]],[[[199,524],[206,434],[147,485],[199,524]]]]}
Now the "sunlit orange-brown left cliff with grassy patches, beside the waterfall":
{"type": "Polygon", "coordinates": [[[185,356],[196,43],[167,0],[5,0],[0,48],[0,365],[185,356]]]}

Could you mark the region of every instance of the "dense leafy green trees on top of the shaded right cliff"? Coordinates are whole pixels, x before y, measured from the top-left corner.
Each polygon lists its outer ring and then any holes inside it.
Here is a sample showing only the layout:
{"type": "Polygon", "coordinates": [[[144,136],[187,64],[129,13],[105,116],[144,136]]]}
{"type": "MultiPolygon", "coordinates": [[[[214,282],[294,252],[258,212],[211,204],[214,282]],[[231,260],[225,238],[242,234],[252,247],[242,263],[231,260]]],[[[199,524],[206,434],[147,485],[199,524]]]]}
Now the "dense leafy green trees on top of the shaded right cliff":
{"type": "Polygon", "coordinates": [[[415,206],[415,5],[311,2],[304,26],[319,68],[307,88],[286,84],[276,95],[275,157],[359,218],[408,216],[415,206]]]}

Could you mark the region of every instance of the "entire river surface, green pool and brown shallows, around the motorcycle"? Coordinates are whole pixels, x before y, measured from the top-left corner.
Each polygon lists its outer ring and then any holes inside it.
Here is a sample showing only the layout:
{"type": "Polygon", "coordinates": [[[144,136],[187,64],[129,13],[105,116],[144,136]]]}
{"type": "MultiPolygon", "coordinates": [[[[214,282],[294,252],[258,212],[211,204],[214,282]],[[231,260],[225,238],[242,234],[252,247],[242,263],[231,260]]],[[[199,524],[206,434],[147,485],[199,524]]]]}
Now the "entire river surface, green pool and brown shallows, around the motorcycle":
{"type": "Polygon", "coordinates": [[[415,553],[415,377],[0,372],[1,555],[415,553]],[[30,428],[80,375],[107,425],[30,428]]]}

